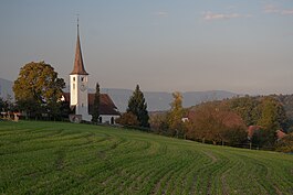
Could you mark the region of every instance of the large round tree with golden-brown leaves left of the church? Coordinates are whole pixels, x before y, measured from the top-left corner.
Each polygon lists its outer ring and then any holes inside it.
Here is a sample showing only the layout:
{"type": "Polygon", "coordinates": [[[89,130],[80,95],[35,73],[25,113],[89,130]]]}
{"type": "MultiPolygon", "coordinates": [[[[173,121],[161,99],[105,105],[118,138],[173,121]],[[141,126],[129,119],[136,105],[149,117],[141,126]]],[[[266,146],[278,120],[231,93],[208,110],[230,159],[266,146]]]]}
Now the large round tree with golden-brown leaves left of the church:
{"type": "Polygon", "coordinates": [[[24,65],[14,82],[13,91],[19,109],[29,116],[48,113],[55,118],[61,115],[60,98],[65,83],[50,64],[31,62],[24,65]]]}

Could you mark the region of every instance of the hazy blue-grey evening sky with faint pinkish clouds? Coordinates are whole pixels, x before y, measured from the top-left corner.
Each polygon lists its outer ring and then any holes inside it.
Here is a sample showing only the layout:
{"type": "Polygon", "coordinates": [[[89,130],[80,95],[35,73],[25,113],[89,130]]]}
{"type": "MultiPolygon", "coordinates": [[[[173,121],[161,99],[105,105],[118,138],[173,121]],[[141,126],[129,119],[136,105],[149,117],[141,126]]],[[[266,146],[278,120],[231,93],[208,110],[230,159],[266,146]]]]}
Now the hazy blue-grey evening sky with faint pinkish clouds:
{"type": "Polygon", "coordinates": [[[0,0],[0,77],[67,83],[77,14],[92,88],[293,94],[293,0],[0,0]]]}

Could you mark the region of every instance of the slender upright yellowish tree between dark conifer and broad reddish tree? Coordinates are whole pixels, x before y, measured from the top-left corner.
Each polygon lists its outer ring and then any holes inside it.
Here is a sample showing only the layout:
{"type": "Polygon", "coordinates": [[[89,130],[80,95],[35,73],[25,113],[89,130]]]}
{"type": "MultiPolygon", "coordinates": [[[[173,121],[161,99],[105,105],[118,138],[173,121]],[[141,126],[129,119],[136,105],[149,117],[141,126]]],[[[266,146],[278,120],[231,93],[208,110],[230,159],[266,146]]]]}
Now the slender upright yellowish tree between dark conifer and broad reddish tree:
{"type": "Polygon", "coordinates": [[[182,108],[182,96],[180,93],[172,93],[174,101],[170,104],[171,109],[168,112],[167,121],[169,126],[169,134],[184,137],[185,127],[182,122],[184,108],[182,108]]]}

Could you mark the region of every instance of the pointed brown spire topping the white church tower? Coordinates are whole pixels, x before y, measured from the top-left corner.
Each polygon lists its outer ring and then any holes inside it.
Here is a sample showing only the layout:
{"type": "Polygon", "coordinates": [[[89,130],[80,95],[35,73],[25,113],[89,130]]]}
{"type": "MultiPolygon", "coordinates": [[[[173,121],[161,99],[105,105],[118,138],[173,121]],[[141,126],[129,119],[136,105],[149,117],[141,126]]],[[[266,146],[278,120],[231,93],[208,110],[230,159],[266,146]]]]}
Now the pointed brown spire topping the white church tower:
{"type": "Polygon", "coordinates": [[[75,59],[74,59],[74,67],[71,75],[88,75],[84,69],[83,65],[83,55],[82,55],[82,47],[80,41],[80,25],[79,25],[79,17],[77,17],[77,41],[76,41],[76,48],[75,48],[75,59]]]}

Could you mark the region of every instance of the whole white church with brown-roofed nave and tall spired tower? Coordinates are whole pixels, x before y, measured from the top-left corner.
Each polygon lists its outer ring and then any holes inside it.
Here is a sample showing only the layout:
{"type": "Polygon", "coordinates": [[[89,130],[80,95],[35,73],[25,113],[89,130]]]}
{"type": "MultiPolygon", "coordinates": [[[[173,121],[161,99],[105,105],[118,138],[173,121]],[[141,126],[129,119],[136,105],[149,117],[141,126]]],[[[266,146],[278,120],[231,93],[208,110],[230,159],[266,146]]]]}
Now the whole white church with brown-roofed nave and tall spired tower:
{"type": "MultiPolygon", "coordinates": [[[[70,115],[72,122],[91,121],[94,112],[95,94],[88,94],[88,73],[84,68],[80,29],[77,20],[77,41],[73,71],[70,74],[70,93],[63,93],[63,100],[70,102],[75,115],[70,115]]],[[[117,107],[107,94],[100,95],[100,123],[114,124],[121,116],[117,107]]]]}

